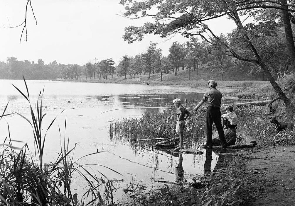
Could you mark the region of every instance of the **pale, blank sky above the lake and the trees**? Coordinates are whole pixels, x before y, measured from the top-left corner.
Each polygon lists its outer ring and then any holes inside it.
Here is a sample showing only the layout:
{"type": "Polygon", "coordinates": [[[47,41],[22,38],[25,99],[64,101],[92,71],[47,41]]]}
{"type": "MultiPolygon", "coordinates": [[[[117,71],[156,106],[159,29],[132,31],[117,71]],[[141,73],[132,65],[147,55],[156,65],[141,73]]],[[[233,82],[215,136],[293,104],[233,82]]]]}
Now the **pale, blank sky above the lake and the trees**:
{"type": "MultiPolygon", "coordinates": [[[[149,42],[158,43],[168,55],[173,41],[185,42],[181,35],[160,38],[148,35],[140,42],[128,44],[122,39],[124,28],[141,26],[149,19],[129,19],[119,0],[31,0],[37,25],[28,11],[27,41],[19,42],[22,27],[0,28],[0,61],[7,57],[45,64],[56,60],[62,64],[95,62],[94,59],[113,58],[117,63],[122,56],[135,56],[148,48],[149,42]]],[[[24,21],[25,0],[0,0],[0,27],[16,26],[24,21]]],[[[208,21],[216,34],[228,33],[235,28],[232,21],[208,21]],[[221,23],[222,22],[222,23],[221,23]]]]}

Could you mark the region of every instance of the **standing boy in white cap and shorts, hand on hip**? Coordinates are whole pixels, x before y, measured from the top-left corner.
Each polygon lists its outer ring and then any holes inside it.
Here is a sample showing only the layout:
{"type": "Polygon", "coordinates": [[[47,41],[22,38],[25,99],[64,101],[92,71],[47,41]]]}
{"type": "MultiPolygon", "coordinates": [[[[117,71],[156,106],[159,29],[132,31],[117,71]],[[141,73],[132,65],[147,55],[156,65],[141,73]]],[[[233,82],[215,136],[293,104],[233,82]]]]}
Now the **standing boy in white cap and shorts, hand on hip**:
{"type": "Polygon", "coordinates": [[[180,99],[174,99],[173,103],[177,108],[176,132],[179,134],[179,147],[175,150],[183,149],[183,129],[185,127],[185,120],[189,117],[190,112],[181,105],[180,99]]]}

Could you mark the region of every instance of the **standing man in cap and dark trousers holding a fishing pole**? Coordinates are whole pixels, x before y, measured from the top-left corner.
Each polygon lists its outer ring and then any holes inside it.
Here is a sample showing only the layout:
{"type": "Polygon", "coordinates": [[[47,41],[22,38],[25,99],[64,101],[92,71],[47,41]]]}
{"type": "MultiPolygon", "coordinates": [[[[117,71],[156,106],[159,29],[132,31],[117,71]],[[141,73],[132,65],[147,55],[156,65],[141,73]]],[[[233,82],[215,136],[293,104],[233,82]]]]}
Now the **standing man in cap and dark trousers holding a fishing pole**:
{"type": "Polygon", "coordinates": [[[226,147],[226,141],[224,138],[224,131],[221,124],[221,112],[220,112],[220,104],[222,94],[216,89],[217,82],[215,80],[209,80],[209,91],[204,94],[204,97],[201,99],[199,104],[194,108],[194,111],[197,111],[199,107],[201,107],[204,102],[207,103],[207,115],[206,115],[206,134],[207,134],[207,142],[202,145],[203,147],[212,148],[212,125],[215,123],[219,141],[222,148],[226,147]]]}

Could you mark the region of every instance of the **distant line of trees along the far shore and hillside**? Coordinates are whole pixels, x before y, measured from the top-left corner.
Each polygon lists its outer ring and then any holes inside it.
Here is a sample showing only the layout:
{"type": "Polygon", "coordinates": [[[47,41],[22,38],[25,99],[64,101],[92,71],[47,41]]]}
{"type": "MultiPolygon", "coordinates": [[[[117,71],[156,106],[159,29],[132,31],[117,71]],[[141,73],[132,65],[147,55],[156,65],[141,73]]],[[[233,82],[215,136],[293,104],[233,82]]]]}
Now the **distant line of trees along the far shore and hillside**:
{"type": "MultiPolygon", "coordinates": [[[[220,38],[224,42],[231,42],[239,48],[239,42],[234,42],[235,38],[232,34],[227,36],[221,35],[220,38]]],[[[283,75],[289,72],[287,49],[283,45],[285,40],[283,36],[272,36],[268,39],[263,39],[260,42],[260,47],[266,53],[265,58],[268,59],[271,72],[275,75],[283,75]]],[[[240,46],[242,48],[242,46],[240,46]]],[[[240,49],[240,53],[247,56],[247,50],[240,49]]],[[[199,67],[212,73],[215,78],[218,73],[221,75],[221,80],[224,79],[224,74],[230,74],[233,70],[239,70],[253,77],[263,76],[263,70],[257,64],[251,62],[242,62],[238,59],[230,57],[216,46],[212,46],[206,41],[199,41],[197,38],[191,37],[189,41],[181,44],[178,41],[172,43],[169,48],[168,56],[162,54],[162,49],[157,48],[156,43],[150,42],[147,50],[142,54],[137,54],[135,57],[123,56],[121,60],[115,64],[113,58],[98,60],[94,63],[88,62],[81,66],[78,64],[58,64],[53,61],[50,64],[44,64],[42,59],[37,63],[30,61],[19,61],[16,57],[9,57],[6,62],[0,62],[0,78],[1,79],[20,79],[24,75],[28,79],[56,79],[57,77],[64,79],[79,79],[80,76],[85,76],[86,79],[112,79],[114,74],[127,79],[128,75],[136,76],[147,74],[168,74],[169,72],[175,76],[182,70],[196,71],[199,74],[199,67]]]]}

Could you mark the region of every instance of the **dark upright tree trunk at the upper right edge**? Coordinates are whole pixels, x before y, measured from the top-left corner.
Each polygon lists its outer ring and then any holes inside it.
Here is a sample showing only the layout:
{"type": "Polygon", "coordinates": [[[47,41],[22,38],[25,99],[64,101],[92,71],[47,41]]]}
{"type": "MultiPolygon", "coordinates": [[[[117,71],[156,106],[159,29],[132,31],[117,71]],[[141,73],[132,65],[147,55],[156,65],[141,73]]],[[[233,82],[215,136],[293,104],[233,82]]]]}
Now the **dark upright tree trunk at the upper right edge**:
{"type": "MultiPolygon", "coordinates": [[[[287,0],[281,0],[281,3],[287,4],[287,0]]],[[[288,6],[282,6],[282,7],[284,9],[288,9],[288,6]]],[[[295,46],[294,46],[292,28],[291,28],[288,11],[282,10],[282,20],[285,24],[285,35],[286,35],[287,47],[289,51],[290,64],[294,72],[295,71],[295,46]]]]}

